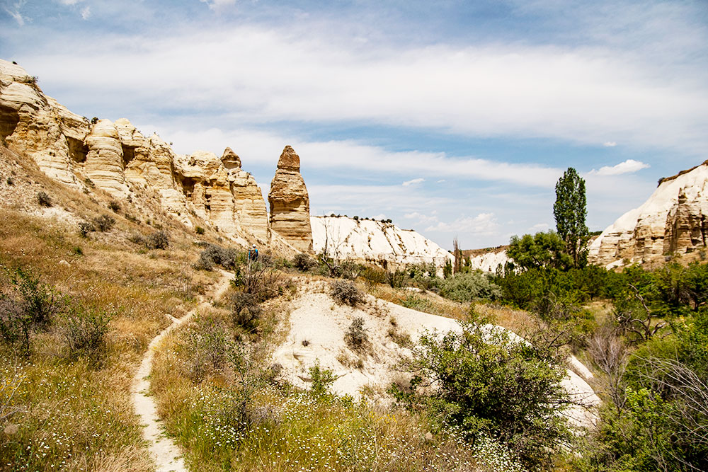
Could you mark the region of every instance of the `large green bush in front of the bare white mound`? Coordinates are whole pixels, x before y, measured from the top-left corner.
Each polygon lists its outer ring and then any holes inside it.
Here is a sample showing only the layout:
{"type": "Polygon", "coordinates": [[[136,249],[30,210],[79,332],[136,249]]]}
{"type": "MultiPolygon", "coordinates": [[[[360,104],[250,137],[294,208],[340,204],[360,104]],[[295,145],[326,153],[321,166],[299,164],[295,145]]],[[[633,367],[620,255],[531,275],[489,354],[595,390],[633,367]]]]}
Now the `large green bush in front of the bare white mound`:
{"type": "Polygon", "coordinates": [[[503,328],[461,323],[462,331],[421,336],[405,365],[412,391],[392,387],[411,408],[426,408],[441,427],[474,443],[498,438],[528,469],[548,467],[573,439],[562,412],[562,356],[503,328]],[[431,386],[433,386],[431,388],[431,386]]]}

